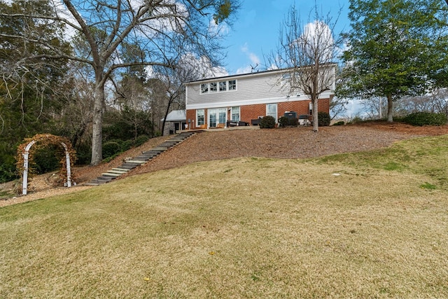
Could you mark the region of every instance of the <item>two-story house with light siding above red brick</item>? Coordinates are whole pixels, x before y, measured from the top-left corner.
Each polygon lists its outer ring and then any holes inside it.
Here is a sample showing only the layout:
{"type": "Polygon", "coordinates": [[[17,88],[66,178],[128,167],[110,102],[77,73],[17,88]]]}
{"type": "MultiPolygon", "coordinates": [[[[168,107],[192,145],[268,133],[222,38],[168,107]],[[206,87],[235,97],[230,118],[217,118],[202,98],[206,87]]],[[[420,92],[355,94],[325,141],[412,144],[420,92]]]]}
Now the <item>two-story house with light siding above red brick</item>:
{"type": "MultiPolygon", "coordinates": [[[[330,65],[334,76],[335,65],[330,65]]],[[[253,125],[262,116],[276,120],[293,111],[311,118],[311,99],[288,87],[290,70],[259,71],[251,74],[207,78],[186,83],[186,118],[190,130],[253,125]]],[[[330,111],[334,80],[318,100],[318,111],[330,111]]]]}

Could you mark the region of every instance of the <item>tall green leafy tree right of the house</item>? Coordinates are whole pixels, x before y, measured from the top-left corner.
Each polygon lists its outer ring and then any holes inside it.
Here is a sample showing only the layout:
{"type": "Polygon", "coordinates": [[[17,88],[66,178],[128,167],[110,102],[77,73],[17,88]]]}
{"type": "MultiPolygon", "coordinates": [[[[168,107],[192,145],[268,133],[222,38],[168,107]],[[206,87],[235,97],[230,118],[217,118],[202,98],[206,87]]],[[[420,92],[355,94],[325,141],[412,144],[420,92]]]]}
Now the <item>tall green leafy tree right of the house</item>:
{"type": "Polygon", "coordinates": [[[351,0],[351,31],[339,97],[422,95],[447,81],[448,11],[443,0],[351,0]]]}

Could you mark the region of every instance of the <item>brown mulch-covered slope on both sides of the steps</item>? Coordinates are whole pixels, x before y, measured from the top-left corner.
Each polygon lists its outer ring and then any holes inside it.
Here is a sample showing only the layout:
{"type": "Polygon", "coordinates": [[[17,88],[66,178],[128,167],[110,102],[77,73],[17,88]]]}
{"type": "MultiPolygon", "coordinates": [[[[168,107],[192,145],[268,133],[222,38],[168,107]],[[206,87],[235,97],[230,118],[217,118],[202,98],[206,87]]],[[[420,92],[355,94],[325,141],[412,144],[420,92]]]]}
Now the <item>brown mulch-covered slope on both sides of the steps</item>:
{"type": "MultiPolygon", "coordinates": [[[[440,134],[448,134],[448,126],[412,127],[400,123],[363,123],[321,127],[317,133],[313,132],[311,127],[201,132],[183,141],[182,144],[172,150],[162,153],[146,165],[134,169],[123,178],[207,160],[238,157],[300,159],[335,153],[368,151],[389,146],[402,139],[440,134]]],[[[52,174],[36,176],[29,183],[29,195],[1,200],[0,207],[90,188],[82,186],[82,184],[94,179],[107,169],[117,167],[126,158],[137,156],[141,151],[157,146],[168,138],[151,139],[146,144],[119,155],[111,162],[102,163],[95,167],[86,166],[74,169],[76,182],[78,183],[75,188],[53,188],[51,184],[52,174]]],[[[3,184],[3,186],[0,186],[0,191],[10,188],[13,188],[12,184],[3,184]]]]}

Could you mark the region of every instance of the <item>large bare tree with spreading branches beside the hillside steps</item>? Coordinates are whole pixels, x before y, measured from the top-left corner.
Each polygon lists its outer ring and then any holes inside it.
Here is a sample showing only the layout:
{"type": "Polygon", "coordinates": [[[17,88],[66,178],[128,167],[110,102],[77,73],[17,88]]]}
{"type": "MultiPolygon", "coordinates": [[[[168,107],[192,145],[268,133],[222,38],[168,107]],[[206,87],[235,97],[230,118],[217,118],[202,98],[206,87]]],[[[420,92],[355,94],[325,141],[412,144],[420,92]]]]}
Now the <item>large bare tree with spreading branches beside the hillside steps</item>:
{"type": "MultiPolygon", "coordinates": [[[[52,1],[52,0],[50,0],[52,1]]],[[[238,0],[106,0],[54,1],[55,16],[30,13],[29,18],[53,20],[68,27],[68,33],[85,40],[87,51],[64,53],[50,41],[34,42],[52,50],[36,57],[76,60],[94,70],[94,104],[92,107],[92,165],[102,160],[102,115],[105,85],[116,69],[137,65],[173,68],[183,53],[211,57],[221,55],[218,24],[235,13],[238,0]],[[123,43],[138,45],[145,56],[124,61],[123,43]]],[[[15,15],[22,17],[23,14],[15,15]]],[[[12,15],[12,17],[14,17],[12,15]]],[[[28,39],[21,34],[0,36],[28,39]]]]}

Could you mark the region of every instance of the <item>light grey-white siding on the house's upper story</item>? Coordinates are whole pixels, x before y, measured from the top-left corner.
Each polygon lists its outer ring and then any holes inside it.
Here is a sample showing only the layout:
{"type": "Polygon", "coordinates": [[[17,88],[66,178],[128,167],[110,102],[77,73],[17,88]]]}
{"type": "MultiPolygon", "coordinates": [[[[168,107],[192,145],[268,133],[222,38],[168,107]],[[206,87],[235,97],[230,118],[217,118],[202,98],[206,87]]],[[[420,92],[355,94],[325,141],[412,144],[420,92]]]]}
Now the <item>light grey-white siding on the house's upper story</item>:
{"type": "MultiPolygon", "coordinates": [[[[334,78],[335,67],[332,66],[334,78]]],[[[290,92],[286,80],[281,81],[282,74],[287,71],[262,71],[253,74],[208,78],[186,83],[186,109],[208,109],[226,106],[244,106],[250,104],[271,104],[287,101],[307,100],[309,96],[303,92],[290,92]],[[236,88],[230,90],[229,85],[235,81],[236,88]],[[220,90],[220,82],[227,87],[220,90]],[[216,83],[216,91],[210,91],[216,83]],[[209,88],[201,92],[202,85],[209,88]]],[[[330,90],[321,94],[322,99],[330,97],[335,90],[335,80],[331,80],[330,90]]]]}

